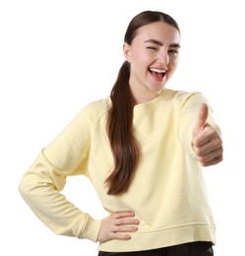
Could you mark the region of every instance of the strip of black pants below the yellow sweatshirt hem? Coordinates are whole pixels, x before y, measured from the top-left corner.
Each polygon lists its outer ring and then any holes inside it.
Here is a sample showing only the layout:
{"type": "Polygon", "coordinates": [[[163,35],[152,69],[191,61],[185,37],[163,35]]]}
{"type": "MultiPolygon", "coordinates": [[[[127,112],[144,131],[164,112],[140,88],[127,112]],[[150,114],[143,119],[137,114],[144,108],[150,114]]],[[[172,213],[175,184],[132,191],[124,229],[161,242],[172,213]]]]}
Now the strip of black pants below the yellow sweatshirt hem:
{"type": "Polygon", "coordinates": [[[159,249],[136,252],[102,252],[98,256],[214,256],[210,242],[190,242],[159,249]]]}

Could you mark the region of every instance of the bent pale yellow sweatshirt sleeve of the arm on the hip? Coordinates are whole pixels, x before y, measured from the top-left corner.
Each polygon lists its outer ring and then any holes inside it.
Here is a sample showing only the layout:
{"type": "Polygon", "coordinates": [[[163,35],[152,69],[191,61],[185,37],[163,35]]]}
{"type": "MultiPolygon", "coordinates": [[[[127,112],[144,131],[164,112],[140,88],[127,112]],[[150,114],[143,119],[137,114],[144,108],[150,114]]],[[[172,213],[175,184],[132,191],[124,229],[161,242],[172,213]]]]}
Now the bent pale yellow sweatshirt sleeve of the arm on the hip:
{"type": "Polygon", "coordinates": [[[81,111],[39,153],[23,175],[19,191],[31,211],[55,233],[96,241],[100,221],[93,220],[61,193],[68,175],[87,171],[90,125],[90,118],[81,111]]]}

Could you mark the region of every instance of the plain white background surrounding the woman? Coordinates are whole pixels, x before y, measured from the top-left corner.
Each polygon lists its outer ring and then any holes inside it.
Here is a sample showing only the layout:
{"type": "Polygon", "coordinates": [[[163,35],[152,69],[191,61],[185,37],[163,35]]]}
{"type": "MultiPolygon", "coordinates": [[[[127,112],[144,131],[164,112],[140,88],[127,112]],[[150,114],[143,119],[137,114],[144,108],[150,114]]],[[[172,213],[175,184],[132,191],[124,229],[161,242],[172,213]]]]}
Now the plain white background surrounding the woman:
{"type": "MultiPolygon", "coordinates": [[[[96,255],[89,240],[58,236],[18,192],[39,150],[87,103],[107,96],[123,62],[130,20],[144,10],[173,16],[182,33],[168,88],[202,91],[221,126],[224,160],[204,169],[216,222],[215,256],[244,252],[243,1],[0,1],[0,255],[96,255]]],[[[64,190],[85,212],[105,216],[88,180],[64,190]]]]}

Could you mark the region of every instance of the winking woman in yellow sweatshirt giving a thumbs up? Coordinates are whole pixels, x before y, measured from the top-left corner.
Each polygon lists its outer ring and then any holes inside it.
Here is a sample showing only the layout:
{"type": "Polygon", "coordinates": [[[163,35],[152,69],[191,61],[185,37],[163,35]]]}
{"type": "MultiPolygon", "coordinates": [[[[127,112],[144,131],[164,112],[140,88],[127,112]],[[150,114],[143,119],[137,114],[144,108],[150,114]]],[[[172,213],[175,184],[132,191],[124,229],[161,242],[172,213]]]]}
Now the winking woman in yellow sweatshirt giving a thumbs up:
{"type": "Polygon", "coordinates": [[[22,196],[55,233],[98,241],[100,256],[213,255],[202,165],[222,160],[222,142],[205,96],[165,88],[179,50],[170,16],[138,14],[110,96],[85,106],[24,174],[22,196]],[[91,179],[104,220],[60,193],[77,174],[91,179]]]}

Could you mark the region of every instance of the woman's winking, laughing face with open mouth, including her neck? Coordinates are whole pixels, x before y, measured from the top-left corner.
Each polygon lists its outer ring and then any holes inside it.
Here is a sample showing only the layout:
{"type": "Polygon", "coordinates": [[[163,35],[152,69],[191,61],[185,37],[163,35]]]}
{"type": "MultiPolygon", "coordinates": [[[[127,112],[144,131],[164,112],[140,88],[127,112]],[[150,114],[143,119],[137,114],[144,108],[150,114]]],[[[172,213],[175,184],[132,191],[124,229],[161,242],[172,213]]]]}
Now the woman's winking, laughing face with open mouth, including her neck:
{"type": "Polygon", "coordinates": [[[163,22],[141,27],[123,51],[130,63],[129,84],[136,103],[158,96],[175,71],[180,48],[180,33],[163,22]]]}

